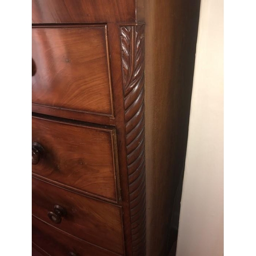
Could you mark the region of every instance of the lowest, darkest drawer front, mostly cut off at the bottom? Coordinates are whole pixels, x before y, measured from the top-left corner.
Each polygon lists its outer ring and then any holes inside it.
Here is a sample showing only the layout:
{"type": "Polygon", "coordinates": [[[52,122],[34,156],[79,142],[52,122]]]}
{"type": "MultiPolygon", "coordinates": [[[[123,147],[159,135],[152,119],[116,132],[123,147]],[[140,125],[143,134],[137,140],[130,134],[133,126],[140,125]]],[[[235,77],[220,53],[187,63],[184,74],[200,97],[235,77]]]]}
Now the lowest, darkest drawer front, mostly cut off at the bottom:
{"type": "Polygon", "coordinates": [[[32,217],[32,242],[51,256],[120,255],[77,239],[35,217],[32,217]]]}

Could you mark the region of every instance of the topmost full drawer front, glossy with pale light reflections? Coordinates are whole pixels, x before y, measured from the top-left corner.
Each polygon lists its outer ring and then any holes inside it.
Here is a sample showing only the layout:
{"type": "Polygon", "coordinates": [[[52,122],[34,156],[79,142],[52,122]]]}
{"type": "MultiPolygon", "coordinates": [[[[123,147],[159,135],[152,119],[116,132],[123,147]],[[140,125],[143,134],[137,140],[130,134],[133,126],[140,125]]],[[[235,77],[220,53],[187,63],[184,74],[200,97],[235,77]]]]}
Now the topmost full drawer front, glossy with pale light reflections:
{"type": "Polygon", "coordinates": [[[32,28],[32,103],[113,116],[106,27],[32,28]]]}

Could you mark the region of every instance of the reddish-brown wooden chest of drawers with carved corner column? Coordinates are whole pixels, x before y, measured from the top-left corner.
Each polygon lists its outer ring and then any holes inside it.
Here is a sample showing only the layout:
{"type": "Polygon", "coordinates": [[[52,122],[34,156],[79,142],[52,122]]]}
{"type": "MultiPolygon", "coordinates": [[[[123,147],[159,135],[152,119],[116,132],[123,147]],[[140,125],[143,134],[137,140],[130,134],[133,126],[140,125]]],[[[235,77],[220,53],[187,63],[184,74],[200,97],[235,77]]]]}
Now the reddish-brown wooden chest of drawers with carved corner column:
{"type": "Polygon", "coordinates": [[[198,11],[32,0],[34,255],[167,255],[198,11]]]}

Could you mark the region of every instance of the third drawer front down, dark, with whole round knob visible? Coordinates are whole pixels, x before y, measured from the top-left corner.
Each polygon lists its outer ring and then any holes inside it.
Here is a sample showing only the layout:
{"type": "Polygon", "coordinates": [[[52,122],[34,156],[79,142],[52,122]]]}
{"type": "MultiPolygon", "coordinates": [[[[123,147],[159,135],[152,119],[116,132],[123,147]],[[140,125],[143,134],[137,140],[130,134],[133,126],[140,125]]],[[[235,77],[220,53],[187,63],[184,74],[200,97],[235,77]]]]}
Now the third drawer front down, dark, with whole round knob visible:
{"type": "Polygon", "coordinates": [[[32,215],[84,241],[123,254],[120,206],[32,178],[32,215]],[[56,214],[56,205],[66,214],[56,214]]]}

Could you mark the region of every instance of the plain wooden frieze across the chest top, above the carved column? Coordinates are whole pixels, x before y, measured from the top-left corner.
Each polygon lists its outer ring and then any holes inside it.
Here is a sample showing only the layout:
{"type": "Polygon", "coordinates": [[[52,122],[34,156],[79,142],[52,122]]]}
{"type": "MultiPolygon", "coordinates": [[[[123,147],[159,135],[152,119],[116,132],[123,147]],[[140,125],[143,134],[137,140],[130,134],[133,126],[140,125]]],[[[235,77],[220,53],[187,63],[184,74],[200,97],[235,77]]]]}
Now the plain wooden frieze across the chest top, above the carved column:
{"type": "Polygon", "coordinates": [[[144,0],[32,0],[32,23],[132,23],[144,0]]]}

